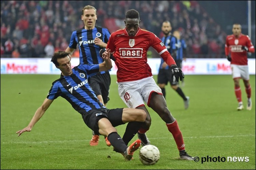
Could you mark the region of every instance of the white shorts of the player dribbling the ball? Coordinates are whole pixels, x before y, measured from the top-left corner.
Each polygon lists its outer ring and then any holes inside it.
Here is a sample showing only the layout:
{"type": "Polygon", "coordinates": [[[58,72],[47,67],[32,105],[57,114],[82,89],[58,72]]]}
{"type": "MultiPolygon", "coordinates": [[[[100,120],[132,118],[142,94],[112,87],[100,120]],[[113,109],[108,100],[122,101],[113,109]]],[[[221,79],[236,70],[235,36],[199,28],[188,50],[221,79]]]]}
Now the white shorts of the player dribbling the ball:
{"type": "Polygon", "coordinates": [[[152,92],[162,95],[162,90],[153,77],[131,82],[117,82],[117,84],[120,98],[130,108],[144,106],[143,101],[149,105],[152,92]]]}

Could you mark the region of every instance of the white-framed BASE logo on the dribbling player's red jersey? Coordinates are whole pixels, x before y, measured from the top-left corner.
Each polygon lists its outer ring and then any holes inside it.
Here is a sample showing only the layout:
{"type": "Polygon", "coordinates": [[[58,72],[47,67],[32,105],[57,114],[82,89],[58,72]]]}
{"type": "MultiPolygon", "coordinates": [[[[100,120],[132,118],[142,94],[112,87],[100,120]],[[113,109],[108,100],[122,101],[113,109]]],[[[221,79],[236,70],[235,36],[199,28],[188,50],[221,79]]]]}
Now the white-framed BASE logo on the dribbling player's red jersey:
{"type": "Polygon", "coordinates": [[[142,48],[119,48],[121,58],[142,58],[142,48]]]}

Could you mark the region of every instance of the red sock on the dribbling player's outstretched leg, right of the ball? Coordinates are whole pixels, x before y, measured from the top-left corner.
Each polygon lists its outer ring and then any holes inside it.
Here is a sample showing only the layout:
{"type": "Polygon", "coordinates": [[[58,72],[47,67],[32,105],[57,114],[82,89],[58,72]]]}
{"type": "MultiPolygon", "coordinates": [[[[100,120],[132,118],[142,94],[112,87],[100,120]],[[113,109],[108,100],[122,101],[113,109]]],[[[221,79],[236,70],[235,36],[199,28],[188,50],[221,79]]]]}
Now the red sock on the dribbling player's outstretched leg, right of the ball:
{"type": "Polygon", "coordinates": [[[176,142],[178,150],[179,151],[185,150],[185,144],[184,144],[183,137],[182,137],[179,125],[177,123],[177,120],[175,120],[172,123],[166,123],[166,126],[168,130],[172,133],[172,136],[176,142]]]}

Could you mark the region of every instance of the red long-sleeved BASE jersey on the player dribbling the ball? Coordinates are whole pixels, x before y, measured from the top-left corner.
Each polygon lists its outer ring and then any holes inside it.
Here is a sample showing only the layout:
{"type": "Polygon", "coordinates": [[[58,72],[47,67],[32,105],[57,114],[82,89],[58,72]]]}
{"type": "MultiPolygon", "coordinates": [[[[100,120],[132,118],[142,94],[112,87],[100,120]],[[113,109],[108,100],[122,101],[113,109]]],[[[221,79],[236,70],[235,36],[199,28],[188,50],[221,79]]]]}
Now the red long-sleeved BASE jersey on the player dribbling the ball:
{"type": "Polygon", "coordinates": [[[176,64],[162,41],[152,32],[138,29],[135,36],[128,35],[126,29],[110,35],[106,49],[110,49],[117,66],[117,82],[141,80],[152,76],[147,64],[147,50],[153,47],[170,66],[176,64]]]}

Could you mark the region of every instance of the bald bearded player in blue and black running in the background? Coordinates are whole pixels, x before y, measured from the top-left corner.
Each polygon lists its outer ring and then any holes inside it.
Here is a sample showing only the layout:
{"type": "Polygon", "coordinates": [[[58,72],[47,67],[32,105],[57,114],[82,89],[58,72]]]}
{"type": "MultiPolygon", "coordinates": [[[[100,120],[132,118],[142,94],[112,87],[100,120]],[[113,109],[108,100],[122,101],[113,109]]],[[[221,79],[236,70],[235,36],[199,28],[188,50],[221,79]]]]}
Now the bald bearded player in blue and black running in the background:
{"type": "MultiPolygon", "coordinates": [[[[180,48],[177,47],[178,41],[175,36],[171,34],[171,23],[169,21],[164,21],[162,23],[162,32],[165,36],[162,37],[161,41],[166,46],[168,52],[172,55],[176,65],[178,68],[181,69],[182,60],[180,60],[180,55],[177,55],[180,48]]],[[[166,64],[163,58],[161,58],[161,63],[159,66],[158,76],[157,76],[157,84],[162,90],[163,97],[165,98],[165,86],[170,82],[170,85],[173,90],[177,92],[177,94],[183,99],[185,109],[189,106],[189,97],[185,96],[182,89],[179,87],[179,82],[175,80],[174,76],[172,75],[171,67],[166,64]]]]}

